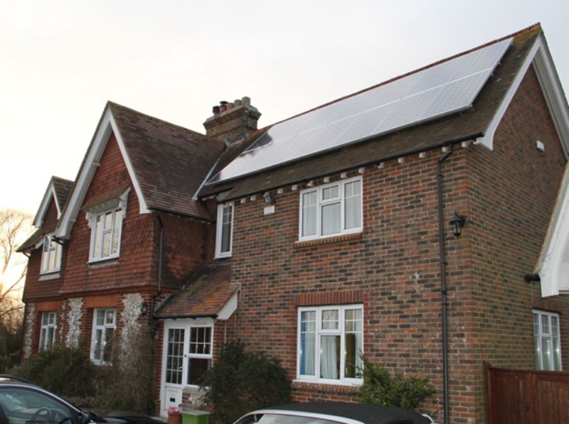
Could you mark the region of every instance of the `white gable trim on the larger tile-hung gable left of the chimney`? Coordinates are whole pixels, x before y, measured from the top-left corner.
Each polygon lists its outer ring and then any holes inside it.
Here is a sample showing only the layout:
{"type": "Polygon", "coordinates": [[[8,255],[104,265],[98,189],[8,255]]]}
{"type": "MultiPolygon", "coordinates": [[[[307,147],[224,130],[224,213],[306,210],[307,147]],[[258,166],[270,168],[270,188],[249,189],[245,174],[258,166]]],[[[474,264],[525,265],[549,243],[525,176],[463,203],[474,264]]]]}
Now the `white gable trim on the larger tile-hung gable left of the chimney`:
{"type": "Polygon", "coordinates": [[[97,126],[97,131],[91,141],[89,149],[85,154],[83,159],[83,164],[79,170],[78,178],[75,182],[75,187],[73,187],[73,192],[70,194],[68,205],[63,210],[62,217],[58,224],[58,229],[56,229],[55,236],[59,238],[67,238],[70,234],[71,227],[73,227],[73,222],[80,212],[80,207],[85,199],[87,190],[89,189],[90,183],[92,181],[95,171],[100,166],[100,160],[102,153],[105,151],[107,142],[110,139],[111,134],[115,134],[117,138],[117,143],[119,145],[120,152],[122,153],[122,159],[127,167],[129,177],[134,186],[134,191],[137,192],[139,199],[139,213],[147,214],[150,213],[147,202],[144,200],[144,195],[142,194],[142,189],[139,185],[137,175],[134,173],[134,168],[127,153],[127,148],[124,146],[124,141],[120,134],[119,128],[112,116],[112,110],[107,104],[105,112],[101,118],[100,124],[97,126]]]}

